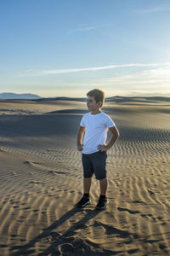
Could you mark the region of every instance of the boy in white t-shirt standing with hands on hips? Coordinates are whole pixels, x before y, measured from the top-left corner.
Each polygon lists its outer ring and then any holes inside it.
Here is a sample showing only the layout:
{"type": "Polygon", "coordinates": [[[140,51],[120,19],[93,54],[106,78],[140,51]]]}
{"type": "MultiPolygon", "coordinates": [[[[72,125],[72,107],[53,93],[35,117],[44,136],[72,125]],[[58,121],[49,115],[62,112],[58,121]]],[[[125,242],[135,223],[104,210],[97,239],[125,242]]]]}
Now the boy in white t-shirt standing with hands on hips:
{"type": "Polygon", "coordinates": [[[116,125],[111,117],[100,110],[105,102],[104,91],[99,89],[90,90],[87,96],[87,106],[90,112],[82,116],[77,134],[77,149],[82,151],[84,194],[76,206],[85,207],[91,202],[89,190],[92,177],[95,174],[100,186],[99,201],[95,209],[101,210],[105,209],[109,203],[105,196],[108,184],[105,170],[106,151],[116,142],[116,139],[119,137],[119,131],[116,129],[116,125]],[[111,131],[112,137],[110,142],[105,145],[108,129],[111,131]],[[85,136],[83,137],[84,131],[85,136]]]}

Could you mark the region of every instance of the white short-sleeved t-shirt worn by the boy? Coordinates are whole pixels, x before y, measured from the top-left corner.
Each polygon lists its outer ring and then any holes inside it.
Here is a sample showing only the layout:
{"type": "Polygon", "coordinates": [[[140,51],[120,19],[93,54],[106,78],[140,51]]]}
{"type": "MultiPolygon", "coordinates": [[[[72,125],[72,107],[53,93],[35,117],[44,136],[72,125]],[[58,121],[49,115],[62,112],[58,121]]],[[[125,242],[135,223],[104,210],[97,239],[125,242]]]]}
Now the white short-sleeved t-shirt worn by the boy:
{"type": "Polygon", "coordinates": [[[82,141],[82,153],[92,154],[99,151],[99,144],[105,144],[108,128],[115,126],[115,123],[111,117],[104,112],[97,114],[89,112],[82,116],[80,125],[86,127],[82,141]]]}

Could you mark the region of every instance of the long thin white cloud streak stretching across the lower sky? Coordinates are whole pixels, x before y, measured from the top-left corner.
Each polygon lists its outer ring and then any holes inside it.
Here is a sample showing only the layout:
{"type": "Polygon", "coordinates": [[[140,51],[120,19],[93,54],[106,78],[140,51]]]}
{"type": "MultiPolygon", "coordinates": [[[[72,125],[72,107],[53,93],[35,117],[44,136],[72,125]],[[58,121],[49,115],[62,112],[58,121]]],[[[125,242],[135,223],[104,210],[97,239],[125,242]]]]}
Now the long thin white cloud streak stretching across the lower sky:
{"type": "Polygon", "coordinates": [[[33,70],[29,69],[20,73],[18,76],[26,77],[26,76],[43,76],[43,75],[51,75],[51,74],[62,74],[62,73],[81,73],[84,71],[99,71],[105,70],[109,68],[122,68],[122,67],[160,67],[167,66],[169,63],[129,63],[129,64],[119,64],[119,65],[111,65],[111,66],[103,66],[103,67],[86,67],[86,68],[69,68],[69,69],[52,69],[52,70],[33,70]]]}

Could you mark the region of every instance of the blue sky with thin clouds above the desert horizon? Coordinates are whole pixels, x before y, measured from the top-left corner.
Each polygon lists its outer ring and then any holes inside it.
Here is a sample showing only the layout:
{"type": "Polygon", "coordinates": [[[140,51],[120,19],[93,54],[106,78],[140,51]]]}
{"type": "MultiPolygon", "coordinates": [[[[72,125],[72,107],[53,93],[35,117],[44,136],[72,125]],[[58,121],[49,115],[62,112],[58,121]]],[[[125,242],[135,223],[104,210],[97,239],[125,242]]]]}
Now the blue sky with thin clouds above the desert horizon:
{"type": "Polygon", "coordinates": [[[0,0],[0,93],[170,96],[169,0],[0,0]]]}

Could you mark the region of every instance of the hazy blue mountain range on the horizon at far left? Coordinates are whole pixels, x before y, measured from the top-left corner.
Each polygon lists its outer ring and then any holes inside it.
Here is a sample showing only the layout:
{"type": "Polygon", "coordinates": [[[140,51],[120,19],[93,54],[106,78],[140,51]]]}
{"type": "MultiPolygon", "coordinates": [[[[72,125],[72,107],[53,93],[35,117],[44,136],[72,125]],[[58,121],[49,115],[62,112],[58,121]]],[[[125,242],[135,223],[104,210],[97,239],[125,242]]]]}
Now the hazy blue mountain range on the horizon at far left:
{"type": "Polygon", "coordinates": [[[3,92],[0,93],[0,99],[4,99],[4,100],[14,100],[14,99],[21,99],[21,100],[37,100],[37,99],[41,99],[40,96],[37,96],[35,94],[16,94],[16,93],[12,93],[12,92],[3,92]]]}

